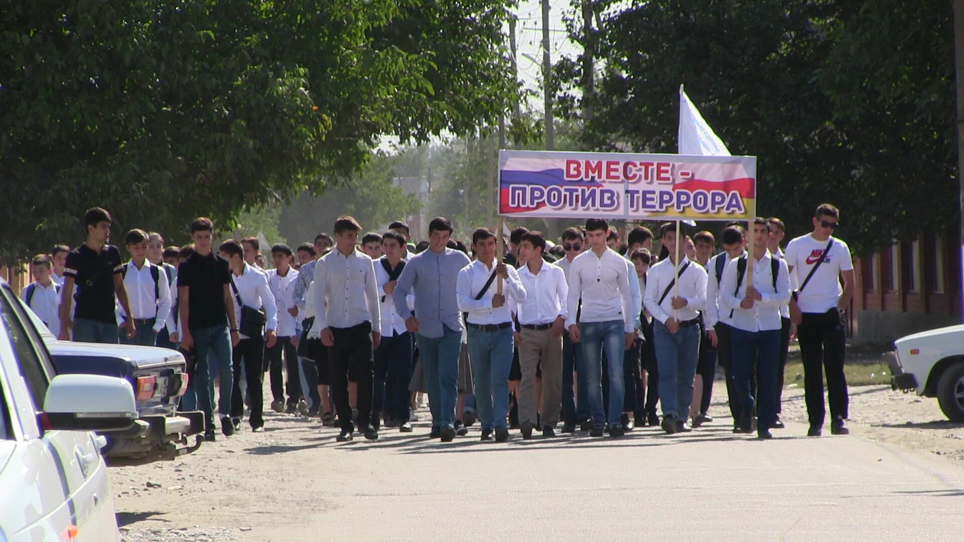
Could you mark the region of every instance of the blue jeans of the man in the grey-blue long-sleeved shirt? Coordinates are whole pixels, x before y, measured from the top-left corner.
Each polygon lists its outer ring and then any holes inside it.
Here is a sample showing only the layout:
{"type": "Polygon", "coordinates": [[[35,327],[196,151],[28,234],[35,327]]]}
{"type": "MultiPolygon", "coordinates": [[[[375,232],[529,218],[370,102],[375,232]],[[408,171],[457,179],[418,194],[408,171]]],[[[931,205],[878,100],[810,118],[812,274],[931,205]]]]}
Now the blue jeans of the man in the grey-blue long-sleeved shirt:
{"type": "Polygon", "coordinates": [[[428,407],[432,412],[432,427],[455,426],[455,401],[459,396],[459,354],[462,352],[462,332],[442,328],[442,337],[430,339],[415,334],[418,359],[425,376],[428,407]]]}

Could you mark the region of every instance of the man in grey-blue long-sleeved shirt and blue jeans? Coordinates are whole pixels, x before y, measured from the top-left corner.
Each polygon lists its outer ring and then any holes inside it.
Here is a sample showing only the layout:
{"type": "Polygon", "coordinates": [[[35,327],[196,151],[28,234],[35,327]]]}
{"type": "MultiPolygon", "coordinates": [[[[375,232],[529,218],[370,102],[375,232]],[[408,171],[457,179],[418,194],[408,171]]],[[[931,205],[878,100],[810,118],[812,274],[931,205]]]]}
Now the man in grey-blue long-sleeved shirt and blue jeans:
{"type": "Polygon", "coordinates": [[[392,292],[405,327],[415,334],[432,411],[433,439],[455,439],[455,401],[459,394],[459,354],[462,351],[462,312],[455,296],[459,271],[469,265],[462,251],[447,248],[452,223],[436,217],[428,225],[429,248],[405,264],[392,292]],[[406,296],[415,292],[415,312],[406,296]],[[417,316],[417,317],[416,317],[417,316]]]}

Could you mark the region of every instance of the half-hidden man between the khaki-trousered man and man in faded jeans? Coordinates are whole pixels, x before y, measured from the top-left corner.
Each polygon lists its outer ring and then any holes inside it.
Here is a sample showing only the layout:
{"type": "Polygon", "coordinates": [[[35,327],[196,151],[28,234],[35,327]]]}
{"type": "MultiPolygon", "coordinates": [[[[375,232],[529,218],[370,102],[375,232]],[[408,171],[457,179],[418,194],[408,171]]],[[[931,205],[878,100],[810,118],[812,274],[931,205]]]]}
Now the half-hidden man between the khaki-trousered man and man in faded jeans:
{"type": "MultiPolygon", "coordinates": [[[[589,245],[586,244],[585,235],[578,228],[569,228],[562,232],[562,250],[566,255],[559,259],[556,265],[562,269],[566,276],[566,285],[569,285],[569,269],[573,265],[573,260],[582,254],[589,245]]],[[[567,300],[568,303],[568,300],[567,300]]],[[[576,314],[579,306],[572,307],[567,305],[567,311],[572,308],[576,314]]],[[[576,322],[578,317],[576,317],[576,322]]],[[[562,412],[563,412],[563,433],[576,432],[576,423],[586,423],[583,429],[589,431],[593,428],[590,420],[589,399],[586,397],[586,371],[582,363],[582,345],[573,342],[567,329],[562,335],[562,412]],[[574,386],[573,375],[576,374],[576,386],[574,386]],[[576,398],[576,393],[578,398],[576,398]]]]}

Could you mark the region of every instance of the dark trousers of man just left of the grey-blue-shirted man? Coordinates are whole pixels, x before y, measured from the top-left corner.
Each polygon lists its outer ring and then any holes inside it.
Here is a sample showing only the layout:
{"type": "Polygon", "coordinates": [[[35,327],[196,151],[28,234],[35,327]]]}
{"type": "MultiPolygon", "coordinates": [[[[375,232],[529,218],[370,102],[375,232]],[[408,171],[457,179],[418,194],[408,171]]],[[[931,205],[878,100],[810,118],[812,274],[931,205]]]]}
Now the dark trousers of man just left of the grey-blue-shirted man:
{"type": "Polygon", "coordinates": [[[412,334],[409,332],[382,336],[382,343],[375,350],[373,415],[384,415],[386,420],[398,423],[409,420],[412,348],[412,334]]]}

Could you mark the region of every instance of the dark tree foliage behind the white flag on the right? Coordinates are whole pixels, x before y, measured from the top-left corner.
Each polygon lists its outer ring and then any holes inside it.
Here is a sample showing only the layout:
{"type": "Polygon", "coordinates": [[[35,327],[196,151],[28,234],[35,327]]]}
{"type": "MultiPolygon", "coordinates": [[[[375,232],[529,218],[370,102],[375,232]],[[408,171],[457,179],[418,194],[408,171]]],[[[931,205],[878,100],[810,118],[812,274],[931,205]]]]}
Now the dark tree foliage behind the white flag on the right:
{"type": "MultiPolygon", "coordinates": [[[[676,152],[678,89],[734,154],[758,162],[758,212],[809,229],[842,209],[859,251],[956,223],[951,5],[924,0],[597,1],[604,68],[560,112],[589,149],[676,152]]],[[[572,25],[574,28],[578,25],[572,25]]]]}

